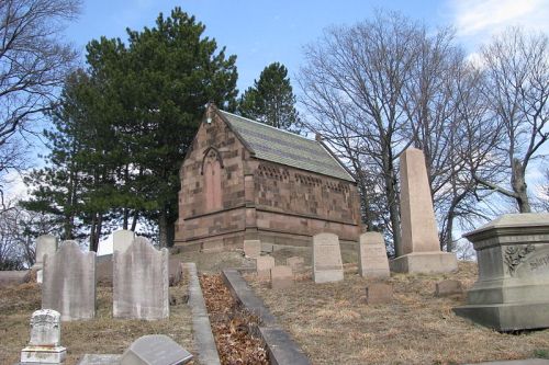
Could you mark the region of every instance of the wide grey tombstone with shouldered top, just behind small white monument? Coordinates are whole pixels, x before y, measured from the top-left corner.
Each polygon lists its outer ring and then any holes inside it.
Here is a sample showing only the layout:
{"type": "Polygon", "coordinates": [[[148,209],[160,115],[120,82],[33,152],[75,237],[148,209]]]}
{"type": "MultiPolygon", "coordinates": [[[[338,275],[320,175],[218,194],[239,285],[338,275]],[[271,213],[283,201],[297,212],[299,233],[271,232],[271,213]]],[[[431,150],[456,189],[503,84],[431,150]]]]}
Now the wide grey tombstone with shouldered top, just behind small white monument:
{"type": "Polygon", "coordinates": [[[96,316],[96,252],[82,252],[75,241],[44,256],[42,308],[54,309],[61,320],[96,316]]]}

